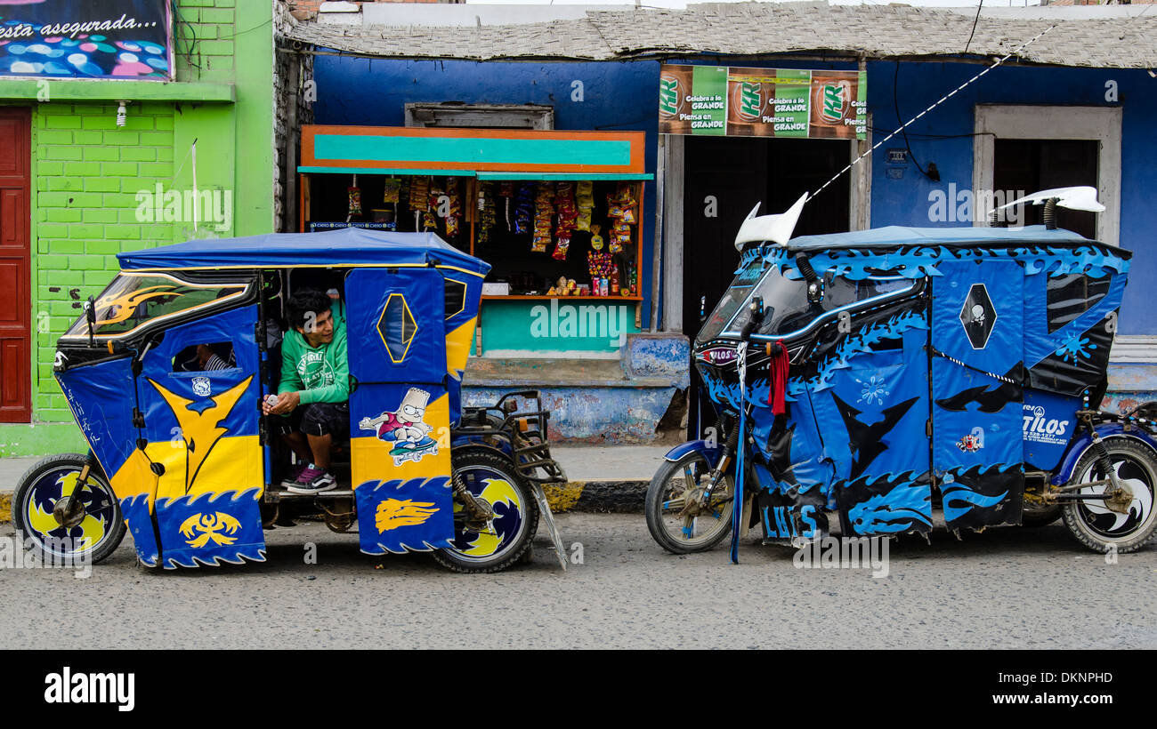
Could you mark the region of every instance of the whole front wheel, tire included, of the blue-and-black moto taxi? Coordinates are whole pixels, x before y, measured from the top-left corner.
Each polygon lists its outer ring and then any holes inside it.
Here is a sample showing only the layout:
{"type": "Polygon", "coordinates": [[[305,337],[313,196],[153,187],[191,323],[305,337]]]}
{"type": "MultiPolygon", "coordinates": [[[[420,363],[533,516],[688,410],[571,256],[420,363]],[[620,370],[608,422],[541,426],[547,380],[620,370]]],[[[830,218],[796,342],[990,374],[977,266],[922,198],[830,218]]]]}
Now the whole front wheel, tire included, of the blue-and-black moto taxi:
{"type": "Polygon", "coordinates": [[[679,518],[684,494],[707,485],[712,466],[699,452],[684,455],[678,461],[664,461],[650,486],[647,488],[647,529],[659,546],[673,555],[705,552],[731,533],[731,512],[735,507],[732,477],[723,476],[722,491],[716,497],[725,499],[710,513],[679,518]],[[705,528],[699,529],[703,520],[705,528]],[[688,530],[690,529],[690,534],[688,530]],[[699,531],[697,535],[695,533],[699,531]]]}

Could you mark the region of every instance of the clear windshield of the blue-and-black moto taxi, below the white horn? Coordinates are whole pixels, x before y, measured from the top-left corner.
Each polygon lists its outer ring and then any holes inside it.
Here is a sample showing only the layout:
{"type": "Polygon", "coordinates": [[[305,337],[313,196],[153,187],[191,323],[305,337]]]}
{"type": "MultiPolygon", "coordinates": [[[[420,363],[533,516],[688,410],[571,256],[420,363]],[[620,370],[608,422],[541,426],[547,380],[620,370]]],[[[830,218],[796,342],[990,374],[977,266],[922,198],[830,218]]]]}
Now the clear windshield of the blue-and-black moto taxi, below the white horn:
{"type": "MultiPolygon", "coordinates": [[[[743,274],[736,278],[736,283],[739,282],[743,274]]],[[[751,296],[764,297],[764,322],[760,325],[757,334],[768,337],[780,337],[808,327],[824,314],[907,291],[913,287],[915,287],[914,281],[900,276],[871,276],[863,281],[852,281],[850,278],[828,273],[824,276],[823,302],[811,304],[808,302],[806,282],[802,278],[793,281],[784,277],[780,273],[779,266],[773,265],[766,270],[758,284],[743,288],[743,300],[729,304],[734,318],[725,327],[720,326],[718,329],[710,334],[710,337],[718,336],[721,333],[738,336],[744,325],[751,318],[751,311],[746,306],[746,302],[750,300],[751,296]]],[[[716,313],[721,313],[723,304],[728,303],[728,296],[737,291],[739,291],[739,287],[732,284],[728,293],[724,295],[724,300],[720,302],[720,306],[716,307],[716,313]]],[[[713,320],[708,321],[708,326],[713,321],[714,314],[713,320]]],[[[703,333],[706,332],[707,327],[703,328],[703,333]]],[[[706,341],[710,337],[705,337],[700,334],[699,340],[706,341]]]]}

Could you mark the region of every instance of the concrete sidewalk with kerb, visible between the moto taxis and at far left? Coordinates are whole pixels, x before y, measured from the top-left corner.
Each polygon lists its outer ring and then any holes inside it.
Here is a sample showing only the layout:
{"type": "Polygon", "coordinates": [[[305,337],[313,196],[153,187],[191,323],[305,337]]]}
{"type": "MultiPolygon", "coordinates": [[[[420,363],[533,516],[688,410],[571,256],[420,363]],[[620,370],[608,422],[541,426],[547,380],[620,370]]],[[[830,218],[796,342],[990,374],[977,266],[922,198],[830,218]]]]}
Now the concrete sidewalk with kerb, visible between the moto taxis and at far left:
{"type": "MultiPolygon", "coordinates": [[[[567,483],[547,486],[557,512],[641,512],[647,484],[669,446],[552,446],[567,483]]],[[[0,522],[8,521],[8,501],[16,482],[39,458],[0,459],[0,522]]]]}

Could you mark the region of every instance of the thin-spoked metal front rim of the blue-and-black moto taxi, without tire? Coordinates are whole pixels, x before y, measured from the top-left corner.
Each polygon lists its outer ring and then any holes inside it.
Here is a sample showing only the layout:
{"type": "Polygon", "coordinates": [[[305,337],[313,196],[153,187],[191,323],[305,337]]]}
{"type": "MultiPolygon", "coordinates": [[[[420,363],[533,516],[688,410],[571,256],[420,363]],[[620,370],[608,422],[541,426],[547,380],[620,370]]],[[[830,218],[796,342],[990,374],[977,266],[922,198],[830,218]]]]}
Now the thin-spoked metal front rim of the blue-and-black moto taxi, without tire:
{"type": "Polygon", "coordinates": [[[714,543],[731,527],[735,490],[730,476],[716,486],[707,508],[694,504],[710,483],[710,470],[707,459],[699,456],[686,461],[662,485],[659,523],[672,541],[687,548],[714,543]]]}

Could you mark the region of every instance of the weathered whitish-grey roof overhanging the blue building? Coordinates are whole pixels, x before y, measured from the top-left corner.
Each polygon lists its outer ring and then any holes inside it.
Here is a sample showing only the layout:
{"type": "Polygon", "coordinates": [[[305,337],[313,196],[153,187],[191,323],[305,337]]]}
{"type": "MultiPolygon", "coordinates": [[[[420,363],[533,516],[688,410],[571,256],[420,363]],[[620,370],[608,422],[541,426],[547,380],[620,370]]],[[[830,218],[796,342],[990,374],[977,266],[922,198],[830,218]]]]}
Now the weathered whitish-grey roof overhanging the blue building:
{"type": "Polygon", "coordinates": [[[867,58],[1004,55],[1054,24],[1017,54],[1022,61],[1100,68],[1157,67],[1157,13],[1108,20],[985,17],[911,6],[825,2],[720,3],[685,10],[590,12],[580,20],[519,25],[388,27],[297,23],[290,40],[364,55],[469,60],[678,59],[779,53],[867,58]],[[970,35],[973,35],[971,43],[970,35]]]}

